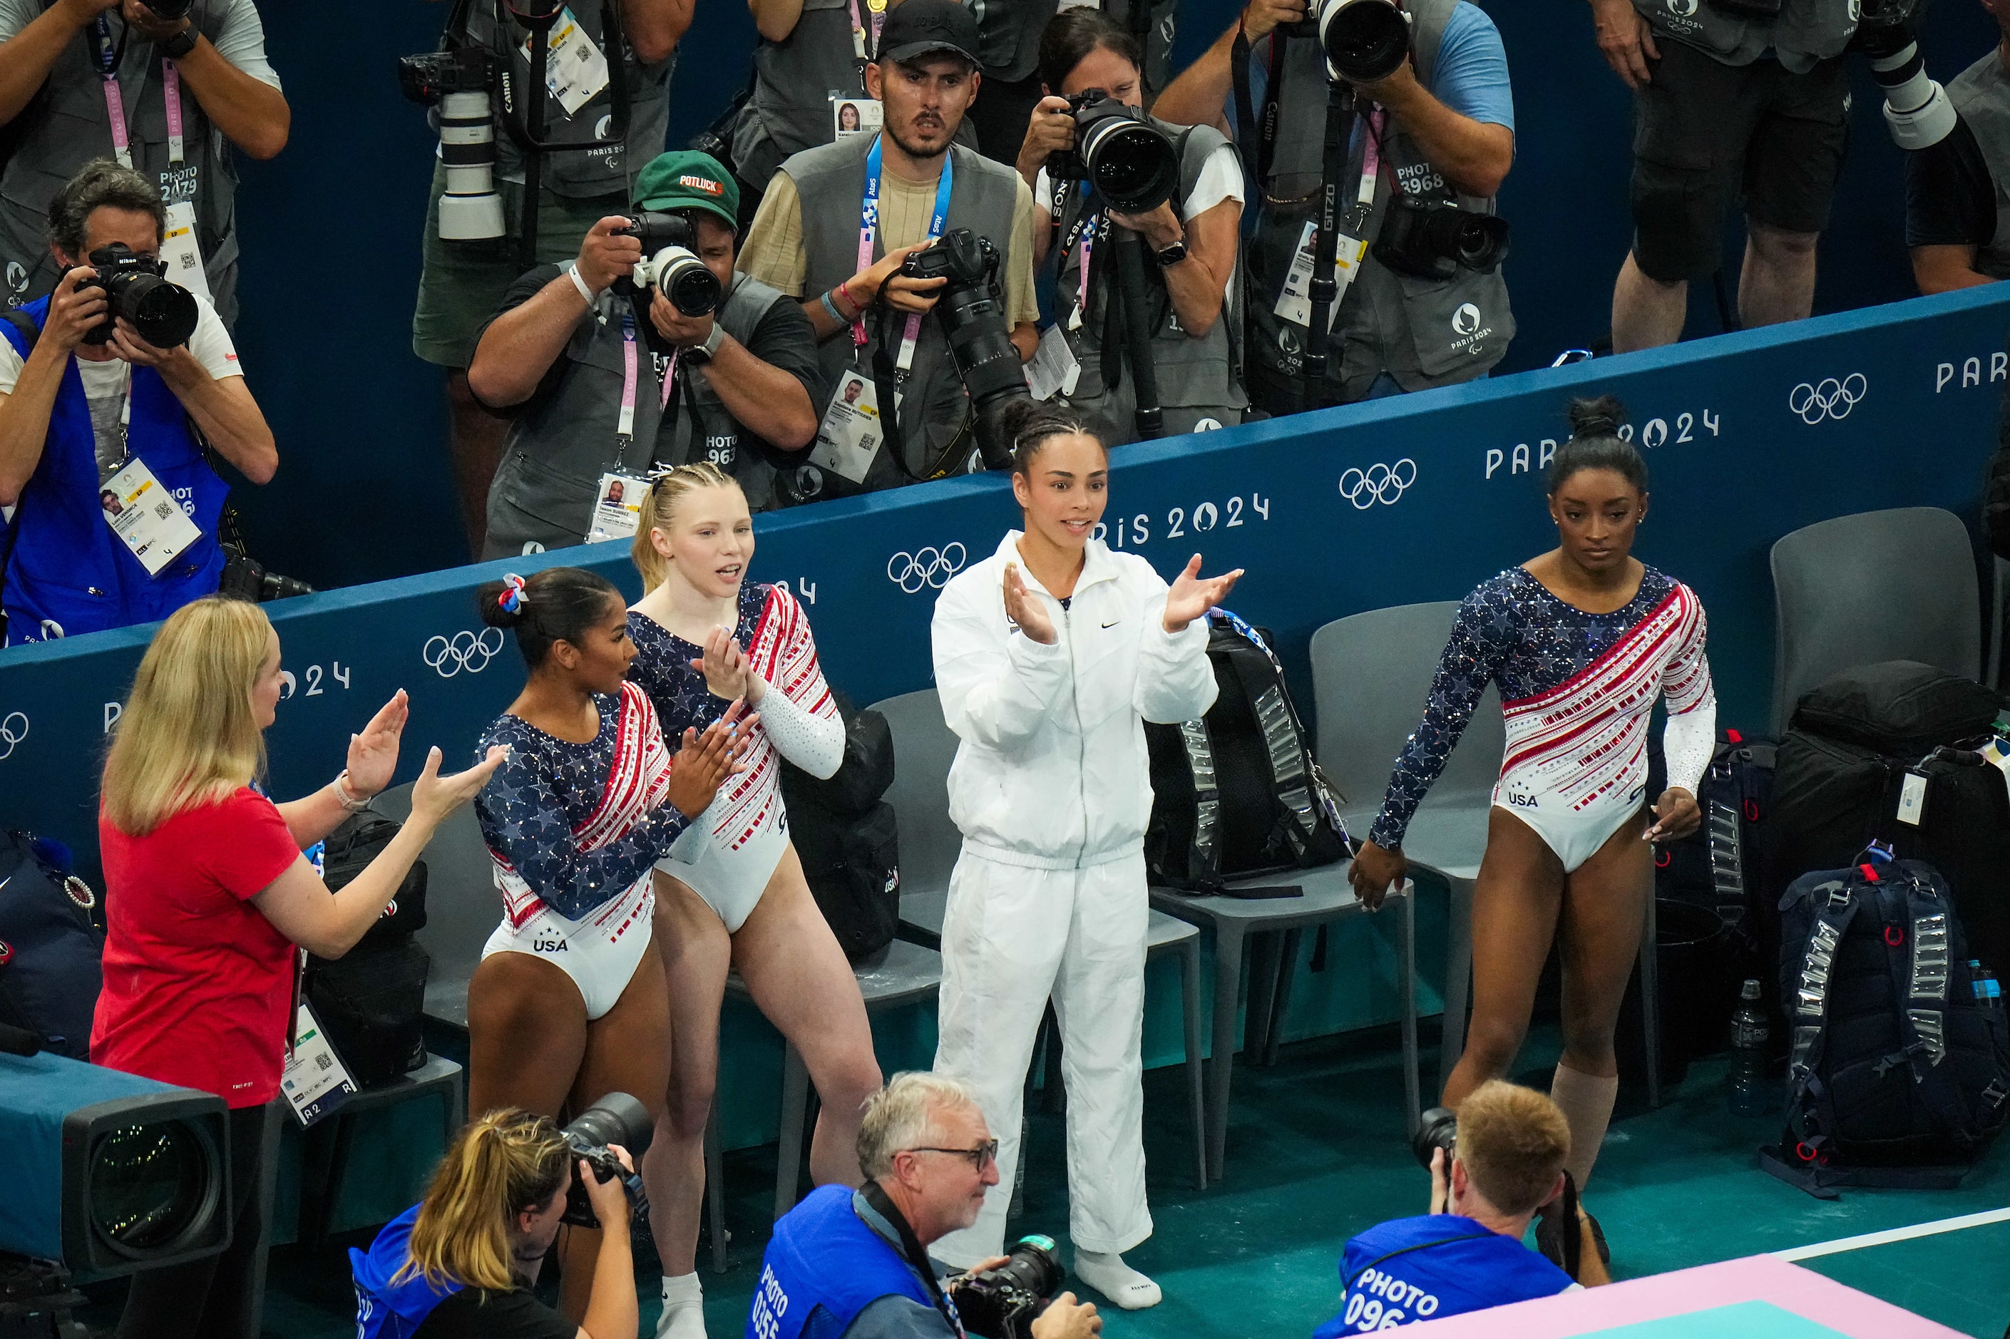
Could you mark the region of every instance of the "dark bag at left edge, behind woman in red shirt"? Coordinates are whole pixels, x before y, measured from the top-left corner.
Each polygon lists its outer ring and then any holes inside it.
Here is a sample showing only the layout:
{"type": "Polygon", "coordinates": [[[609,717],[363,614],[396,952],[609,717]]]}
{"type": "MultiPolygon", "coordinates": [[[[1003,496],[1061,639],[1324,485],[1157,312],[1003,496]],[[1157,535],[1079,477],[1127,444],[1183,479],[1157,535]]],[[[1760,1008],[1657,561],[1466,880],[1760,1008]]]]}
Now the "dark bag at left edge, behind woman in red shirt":
{"type": "Polygon", "coordinates": [[[105,985],[96,907],[62,844],[0,834],[0,1023],[70,1060],[90,1060],[90,1015],[105,985]]]}

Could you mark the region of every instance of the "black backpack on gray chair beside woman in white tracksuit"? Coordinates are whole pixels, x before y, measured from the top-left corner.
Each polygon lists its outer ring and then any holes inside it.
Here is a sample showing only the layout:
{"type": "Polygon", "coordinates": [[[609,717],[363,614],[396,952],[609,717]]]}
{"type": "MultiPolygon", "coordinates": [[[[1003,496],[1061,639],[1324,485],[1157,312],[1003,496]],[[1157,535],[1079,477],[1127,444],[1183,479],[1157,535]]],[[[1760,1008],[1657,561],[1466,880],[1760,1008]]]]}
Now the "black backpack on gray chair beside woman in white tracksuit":
{"type": "Polygon", "coordinates": [[[1216,698],[1202,720],[1146,722],[1152,881],[1218,893],[1228,879],[1331,865],[1351,854],[1333,786],[1306,742],[1284,667],[1254,627],[1208,615],[1216,698]]]}

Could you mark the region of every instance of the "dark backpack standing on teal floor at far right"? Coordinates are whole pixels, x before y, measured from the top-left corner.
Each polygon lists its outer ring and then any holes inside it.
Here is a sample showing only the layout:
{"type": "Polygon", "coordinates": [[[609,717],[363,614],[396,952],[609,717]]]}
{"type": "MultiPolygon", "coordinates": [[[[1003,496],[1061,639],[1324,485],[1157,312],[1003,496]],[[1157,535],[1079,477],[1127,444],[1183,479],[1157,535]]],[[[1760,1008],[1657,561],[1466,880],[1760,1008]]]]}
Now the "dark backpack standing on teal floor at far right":
{"type": "Polygon", "coordinates": [[[1779,907],[1793,1090],[1761,1164],[1817,1198],[1954,1186],[2010,1112],[2004,1013],[1974,997],[1948,887],[1924,860],[1863,854],[1779,907]]]}

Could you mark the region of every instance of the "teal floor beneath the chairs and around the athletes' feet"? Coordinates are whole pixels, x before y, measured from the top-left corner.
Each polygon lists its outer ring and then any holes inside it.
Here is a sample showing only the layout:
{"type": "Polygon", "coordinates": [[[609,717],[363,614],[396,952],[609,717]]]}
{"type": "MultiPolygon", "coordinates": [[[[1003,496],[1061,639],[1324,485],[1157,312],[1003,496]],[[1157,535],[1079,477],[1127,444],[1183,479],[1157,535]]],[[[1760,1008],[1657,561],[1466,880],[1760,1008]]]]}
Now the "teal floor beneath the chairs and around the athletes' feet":
{"type": "MultiPolygon", "coordinates": [[[[1538,1033],[1518,1078],[1548,1088],[1554,1056],[1554,1039],[1546,1047],[1538,1033]]],[[[1435,1066],[1431,1047],[1425,1064],[1435,1066]]],[[[1238,1062],[1228,1174],[1196,1190],[1180,1070],[1148,1074],[1156,1232],[1128,1259],[1164,1285],[1166,1301],[1114,1315],[1105,1333],[1304,1339],[1335,1309],[1341,1245],[1373,1222],[1427,1206],[1427,1178],[1403,1138],[1401,1094],[1393,1029],[1288,1045],[1274,1068],[1238,1062]]],[[[1815,1200],[1759,1172],[1753,1150],[1775,1130],[1767,1120],[1727,1114],[1721,1060],[1696,1064],[1660,1110],[1648,1112],[1638,1096],[1622,1094],[1586,1196],[1612,1242],[1614,1275],[1640,1277],[2010,1204],[2010,1154],[2002,1146],[1958,1190],[1843,1190],[1839,1200],[1815,1200]]],[[[774,1150],[730,1154],[726,1178],[732,1269],[712,1275],[706,1265],[714,1339],[746,1329],[774,1150]]],[[[1065,1228],[1063,1118],[1041,1110],[1031,1124],[1025,1208],[1013,1230],[1065,1242],[1065,1228]]],[[[267,1333],[352,1335],[346,1257],[336,1245],[364,1238],[350,1234],[320,1251],[275,1249],[267,1333]]],[[[1827,1255],[1807,1267],[1978,1339],[2000,1339],[2010,1323],[2010,1222],[1827,1255]]],[[[641,1267],[637,1275],[647,1337],[657,1311],[653,1261],[647,1275],[641,1267]]]]}

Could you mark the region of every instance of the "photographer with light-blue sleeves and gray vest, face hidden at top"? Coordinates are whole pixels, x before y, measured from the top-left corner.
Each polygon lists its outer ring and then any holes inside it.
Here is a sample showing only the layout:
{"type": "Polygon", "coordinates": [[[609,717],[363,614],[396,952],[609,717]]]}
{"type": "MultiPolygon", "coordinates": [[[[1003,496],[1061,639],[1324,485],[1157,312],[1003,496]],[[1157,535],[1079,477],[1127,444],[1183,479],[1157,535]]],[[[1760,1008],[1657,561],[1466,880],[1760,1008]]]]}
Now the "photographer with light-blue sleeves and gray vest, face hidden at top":
{"type": "Polygon", "coordinates": [[[1178,125],[1228,129],[1232,117],[1244,163],[1254,169],[1250,191],[1262,203],[1244,257],[1244,376],[1250,400],[1270,414],[1469,382],[1485,376],[1514,338],[1497,257],[1485,267],[1451,265],[1441,245],[1419,237],[1427,211],[1455,205],[1491,215],[1514,165],[1499,30],[1463,0],[1409,0],[1411,56],[1387,78],[1353,84],[1353,141],[1339,181],[1327,183],[1327,60],[1313,32],[1288,26],[1317,18],[1319,8],[1252,0],[1152,109],[1178,125]],[[1240,50],[1248,52],[1246,107],[1236,90],[1240,50]],[[1306,279],[1323,185],[1337,193],[1345,233],[1337,257],[1351,251],[1359,263],[1351,279],[1337,267],[1343,294],[1327,380],[1309,386],[1306,279]],[[1387,249],[1399,227],[1413,239],[1401,269],[1387,249]],[[1419,277],[1435,265],[1449,277],[1419,277]]]}

